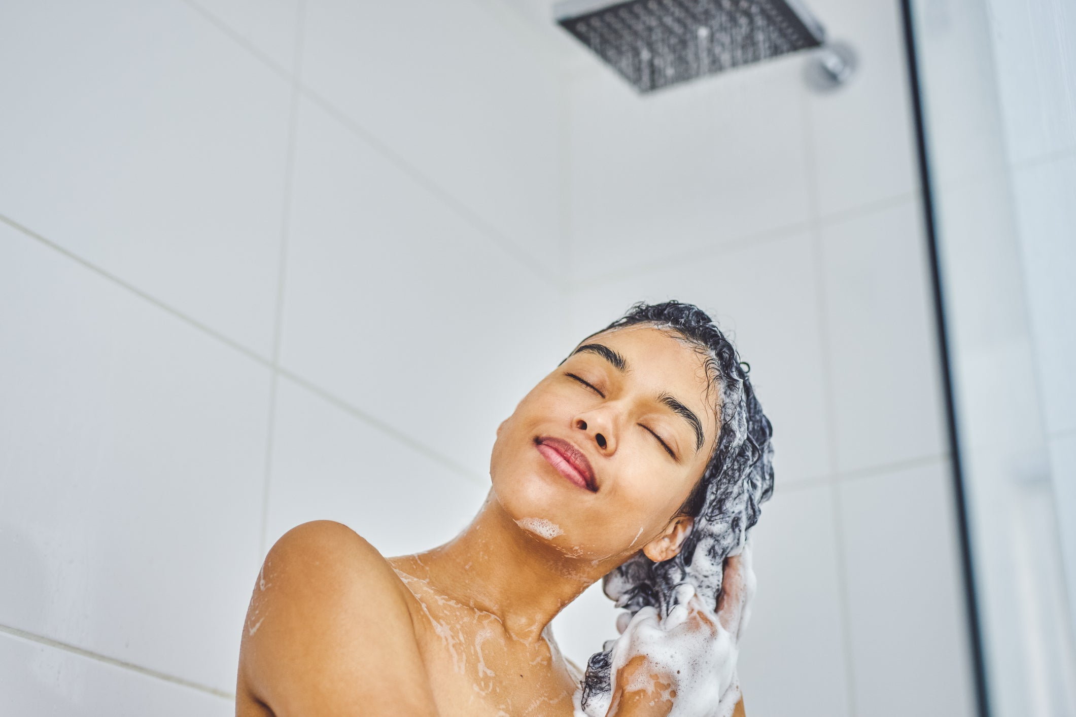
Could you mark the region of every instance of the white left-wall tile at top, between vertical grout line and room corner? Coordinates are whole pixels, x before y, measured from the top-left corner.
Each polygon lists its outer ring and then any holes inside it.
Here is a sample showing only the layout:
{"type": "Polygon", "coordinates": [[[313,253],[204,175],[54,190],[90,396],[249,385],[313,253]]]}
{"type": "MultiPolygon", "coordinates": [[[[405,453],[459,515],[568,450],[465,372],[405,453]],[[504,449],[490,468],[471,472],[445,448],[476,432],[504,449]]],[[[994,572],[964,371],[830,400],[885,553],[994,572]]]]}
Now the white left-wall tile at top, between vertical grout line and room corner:
{"type": "Polygon", "coordinates": [[[555,67],[468,0],[308,0],[302,78],[547,267],[560,235],[555,67]]]}

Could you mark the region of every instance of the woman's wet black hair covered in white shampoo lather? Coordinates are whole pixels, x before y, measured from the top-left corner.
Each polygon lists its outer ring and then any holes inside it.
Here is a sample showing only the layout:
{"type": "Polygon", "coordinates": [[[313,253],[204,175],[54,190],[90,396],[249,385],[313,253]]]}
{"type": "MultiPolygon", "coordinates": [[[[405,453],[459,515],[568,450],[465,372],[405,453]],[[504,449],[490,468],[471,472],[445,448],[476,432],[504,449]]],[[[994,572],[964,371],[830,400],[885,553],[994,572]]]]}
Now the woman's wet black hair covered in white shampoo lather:
{"type": "Polygon", "coordinates": [[[720,623],[714,635],[705,635],[705,643],[699,643],[703,637],[695,641],[699,644],[685,643],[678,630],[689,603],[713,615],[727,556],[742,555],[748,592],[753,592],[750,550],[745,548],[748,531],[759,520],[760,505],[774,489],[773,427],[748,379],[750,368],[745,369],[732,343],[705,312],[677,301],[638,303],[603,331],[636,324],[666,329],[703,355],[718,388],[720,429],[710,461],[685,504],[694,526],[680,554],[655,563],[640,551],[606,575],[606,594],[618,607],[629,611],[632,619],[620,639],[607,642],[604,651],[587,661],[578,705],[587,717],[604,717],[617,670],[632,655],[641,654],[674,675],[678,659],[691,662],[679,668],[692,679],[676,686],[671,717],[721,715],[728,706],[720,698],[736,683],[735,645],[720,623]],[[699,689],[703,684],[706,689],[699,689]]]}

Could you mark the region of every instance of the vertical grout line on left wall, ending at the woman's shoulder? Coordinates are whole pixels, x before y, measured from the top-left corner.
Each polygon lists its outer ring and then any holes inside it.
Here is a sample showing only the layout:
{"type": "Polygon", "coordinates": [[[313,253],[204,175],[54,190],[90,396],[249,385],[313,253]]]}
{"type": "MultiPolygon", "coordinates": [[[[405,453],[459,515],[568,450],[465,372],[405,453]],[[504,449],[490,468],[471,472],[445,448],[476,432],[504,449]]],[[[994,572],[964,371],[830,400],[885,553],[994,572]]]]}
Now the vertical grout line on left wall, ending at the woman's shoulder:
{"type": "Polygon", "coordinates": [[[287,279],[287,249],[292,231],[292,195],[295,186],[295,154],[299,126],[299,77],[301,76],[302,45],[306,28],[306,0],[296,6],[295,52],[292,67],[292,100],[287,118],[287,148],[284,160],[284,193],[281,206],[280,256],[277,263],[277,306],[273,317],[272,378],[269,385],[269,417],[266,427],[265,481],[261,486],[261,530],[258,536],[259,555],[265,557],[269,540],[269,492],[272,485],[272,459],[277,434],[277,395],[280,385],[280,345],[284,324],[284,289],[287,279]]]}

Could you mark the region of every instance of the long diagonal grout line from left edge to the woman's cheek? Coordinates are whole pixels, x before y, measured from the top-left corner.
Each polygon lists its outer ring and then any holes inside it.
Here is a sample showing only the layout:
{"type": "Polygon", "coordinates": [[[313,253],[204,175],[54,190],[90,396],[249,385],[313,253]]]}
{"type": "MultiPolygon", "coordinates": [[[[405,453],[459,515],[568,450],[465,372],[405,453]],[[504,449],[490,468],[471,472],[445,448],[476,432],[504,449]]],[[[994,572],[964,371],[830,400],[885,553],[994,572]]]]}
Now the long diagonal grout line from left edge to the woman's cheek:
{"type": "MultiPolygon", "coordinates": [[[[334,405],[342,408],[346,413],[350,413],[352,416],[358,418],[359,420],[362,420],[363,422],[367,424],[371,428],[374,428],[374,429],[377,429],[377,430],[379,430],[379,431],[381,431],[383,433],[387,433],[387,434],[392,435],[396,440],[398,440],[401,443],[405,443],[408,446],[414,448],[416,451],[419,451],[422,455],[426,456],[430,460],[433,460],[433,461],[441,464],[442,467],[451,470],[452,472],[454,472],[454,473],[456,473],[456,474],[458,474],[461,476],[465,476],[469,481],[479,481],[479,478],[476,476],[476,474],[471,473],[466,468],[464,468],[461,464],[456,463],[451,458],[448,458],[447,456],[442,456],[440,453],[434,450],[433,448],[430,448],[430,447],[428,447],[428,446],[426,446],[424,444],[421,444],[421,443],[416,442],[414,439],[411,439],[408,435],[405,435],[400,431],[398,431],[395,428],[391,427],[388,424],[385,424],[384,421],[382,421],[382,420],[380,420],[378,418],[374,418],[372,415],[370,415],[370,414],[362,411],[357,406],[351,405],[350,403],[348,403],[343,399],[335,396],[334,393],[331,393],[327,389],[324,389],[324,388],[317,386],[313,382],[311,382],[311,381],[309,381],[307,378],[303,378],[302,376],[300,376],[300,375],[298,375],[298,374],[296,374],[296,373],[294,373],[292,371],[288,371],[288,370],[283,369],[281,367],[274,365],[271,360],[266,359],[265,357],[263,357],[263,356],[254,353],[253,350],[246,348],[242,344],[239,344],[239,343],[235,342],[233,340],[229,339],[228,336],[224,335],[223,333],[220,333],[218,331],[209,328],[204,324],[202,324],[202,322],[200,322],[200,321],[198,321],[198,320],[196,320],[194,318],[190,318],[186,314],[183,314],[183,313],[176,311],[175,309],[172,309],[171,306],[169,306],[168,304],[164,303],[159,299],[157,299],[157,298],[155,298],[155,297],[146,293],[145,291],[143,291],[143,290],[141,290],[141,289],[132,286],[131,284],[128,284],[127,282],[125,282],[122,278],[115,276],[114,274],[111,274],[111,273],[104,271],[100,267],[97,267],[97,266],[90,263],[89,261],[83,259],[79,255],[69,252],[68,249],[63,248],[62,246],[59,246],[55,242],[52,242],[48,239],[45,239],[41,234],[37,233],[36,231],[33,231],[33,230],[31,230],[31,229],[29,229],[27,227],[24,227],[23,225],[18,224],[14,219],[11,219],[11,218],[4,216],[3,214],[0,214],[0,224],[8,225],[12,229],[14,229],[17,232],[19,232],[20,234],[24,234],[28,239],[31,239],[31,240],[40,242],[41,244],[43,244],[47,248],[49,248],[49,249],[56,252],[57,254],[60,254],[61,256],[63,256],[63,257],[70,259],[70,260],[74,261],[75,263],[82,266],[84,269],[87,269],[87,270],[91,271],[93,273],[95,273],[96,275],[100,276],[101,278],[104,278],[104,279],[107,279],[109,282],[112,282],[113,284],[117,285],[122,289],[130,291],[131,293],[133,293],[134,296],[139,297],[140,299],[143,299],[144,301],[148,302],[153,306],[155,306],[155,307],[164,311],[168,315],[170,315],[170,316],[172,316],[174,318],[180,319],[184,324],[190,326],[194,329],[197,329],[197,330],[201,331],[202,333],[204,333],[206,335],[210,336],[211,339],[215,339],[216,341],[220,341],[221,343],[223,343],[224,345],[228,346],[229,348],[232,348],[232,349],[239,352],[240,354],[242,354],[243,356],[245,356],[249,359],[253,360],[254,362],[258,363],[259,365],[263,365],[266,369],[269,369],[270,371],[272,371],[274,373],[279,373],[280,375],[292,379],[293,382],[299,384],[300,386],[302,386],[307,390],[309,390],[309,391],[311,391],[313,393],[316,393],[317,396],[324,398],[325,400],[329,401],[334,405]]],[[[482,481],[479,481],[479,483],[481,485],[485,485],[484,482],[482,482],[482,481]]]]}

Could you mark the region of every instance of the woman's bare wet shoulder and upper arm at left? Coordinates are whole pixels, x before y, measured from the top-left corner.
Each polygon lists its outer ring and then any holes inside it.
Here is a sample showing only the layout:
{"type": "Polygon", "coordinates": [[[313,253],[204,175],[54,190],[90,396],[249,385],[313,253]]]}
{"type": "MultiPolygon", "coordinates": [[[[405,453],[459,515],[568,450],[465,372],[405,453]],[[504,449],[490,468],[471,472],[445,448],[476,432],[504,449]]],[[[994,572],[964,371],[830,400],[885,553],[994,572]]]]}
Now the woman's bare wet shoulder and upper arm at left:
{"type": "Polygon", "coordinates": [[[288,531],[255,580],[237,714],[435,715],[406,590],[346,526],[288,531]]]}

